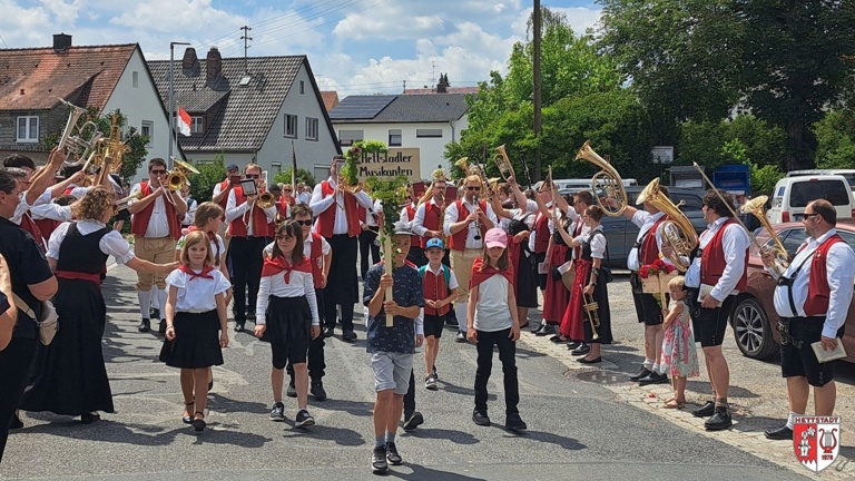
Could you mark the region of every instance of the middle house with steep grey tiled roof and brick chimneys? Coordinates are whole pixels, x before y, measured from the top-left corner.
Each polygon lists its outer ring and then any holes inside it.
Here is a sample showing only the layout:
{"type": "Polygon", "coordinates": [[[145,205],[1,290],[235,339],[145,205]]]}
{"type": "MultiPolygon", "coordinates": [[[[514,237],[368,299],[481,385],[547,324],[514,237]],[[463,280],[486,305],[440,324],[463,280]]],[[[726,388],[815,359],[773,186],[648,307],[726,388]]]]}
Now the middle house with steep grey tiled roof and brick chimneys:
{"type": "MultiPolygon", "coordinates": [[[[148,66],[168,101],[169,60],[148,66]]],[[[173,71],[176,110],[191,118],[178,144],[193,161],[222,155],[226,165],[258,164],[273,180],[291,166],[293,146],[297,167],[323,179],[341,154],[306,56],[222,58],[213,47],[199,59],[187,48],[173,71]]]]}

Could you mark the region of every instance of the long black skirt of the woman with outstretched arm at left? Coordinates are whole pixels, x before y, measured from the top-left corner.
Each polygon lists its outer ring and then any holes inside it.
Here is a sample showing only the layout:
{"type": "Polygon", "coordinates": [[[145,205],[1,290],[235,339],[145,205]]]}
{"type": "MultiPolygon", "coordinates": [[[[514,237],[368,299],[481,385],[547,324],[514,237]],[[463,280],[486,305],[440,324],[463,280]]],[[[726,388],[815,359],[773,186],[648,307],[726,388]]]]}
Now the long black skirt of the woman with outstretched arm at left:
{"type": "Polygon", "coordinates": [[[107,307],[100,286],[91,281],[60,278],[53,305],[59,331],[50,345],[38,345],[20,409],[67,415],[114,412],[101,351],[107,307]]]}

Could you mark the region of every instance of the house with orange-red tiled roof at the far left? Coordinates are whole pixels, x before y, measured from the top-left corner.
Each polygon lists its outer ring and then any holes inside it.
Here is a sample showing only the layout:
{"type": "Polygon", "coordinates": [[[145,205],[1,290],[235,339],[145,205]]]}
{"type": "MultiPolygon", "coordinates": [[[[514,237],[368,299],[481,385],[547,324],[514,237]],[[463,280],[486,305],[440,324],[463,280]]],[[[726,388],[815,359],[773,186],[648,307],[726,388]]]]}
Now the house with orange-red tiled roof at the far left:
{"type": "Polygon", "coordinates": [[[58,33],[52,47],[0,49],[0,156],[46,161],[48,137],[61,136],[69,116],[60,99],[101,115],[121,111],[126,129],[148,137],[148,158],[167,158],[167,109],[138,43],[72,46],[58,33]]]}

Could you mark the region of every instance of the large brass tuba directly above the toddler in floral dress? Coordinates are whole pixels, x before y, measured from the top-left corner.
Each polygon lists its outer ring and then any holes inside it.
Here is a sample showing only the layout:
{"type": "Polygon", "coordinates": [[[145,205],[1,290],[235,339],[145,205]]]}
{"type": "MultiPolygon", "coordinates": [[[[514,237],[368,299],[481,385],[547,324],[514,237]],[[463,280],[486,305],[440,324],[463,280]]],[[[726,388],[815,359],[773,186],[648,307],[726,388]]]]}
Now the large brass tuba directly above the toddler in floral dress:
{"type": "Polygon", "coordinates": [[[643,203],[650,203],[668,217],[662,223],[662,242],[674,249],[668,259],[678,271],[686,272],[689,268],[691,252],[698,245],[698,234],[695,232],[691,220],[680,210],[682,200],[674,204],[671,199],[662,195],[659,189],[659,179],[655,178],[638,195],[636,205],[643,203]]]}

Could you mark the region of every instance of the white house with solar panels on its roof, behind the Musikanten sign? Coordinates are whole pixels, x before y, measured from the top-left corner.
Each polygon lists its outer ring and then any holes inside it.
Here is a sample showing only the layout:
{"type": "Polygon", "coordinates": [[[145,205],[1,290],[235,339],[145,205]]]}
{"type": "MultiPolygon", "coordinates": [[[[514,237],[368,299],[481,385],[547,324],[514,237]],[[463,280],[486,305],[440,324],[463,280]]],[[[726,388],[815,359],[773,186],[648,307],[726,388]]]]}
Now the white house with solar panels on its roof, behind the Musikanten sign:
{"type": "Polygon", "coordinates": [[[415,181],[430,179],[439,167],[451,171],[443,157],[445,145],[469,127],[466,109],[466,94],[350,96],[330,111],[330,118],[342,147],[363,139],[389,146],[387,156],[367,159],[361,167],[363,177],[404,174],[415,181]],[[391,165],[404,168],[393,170],[391,165]]]}

